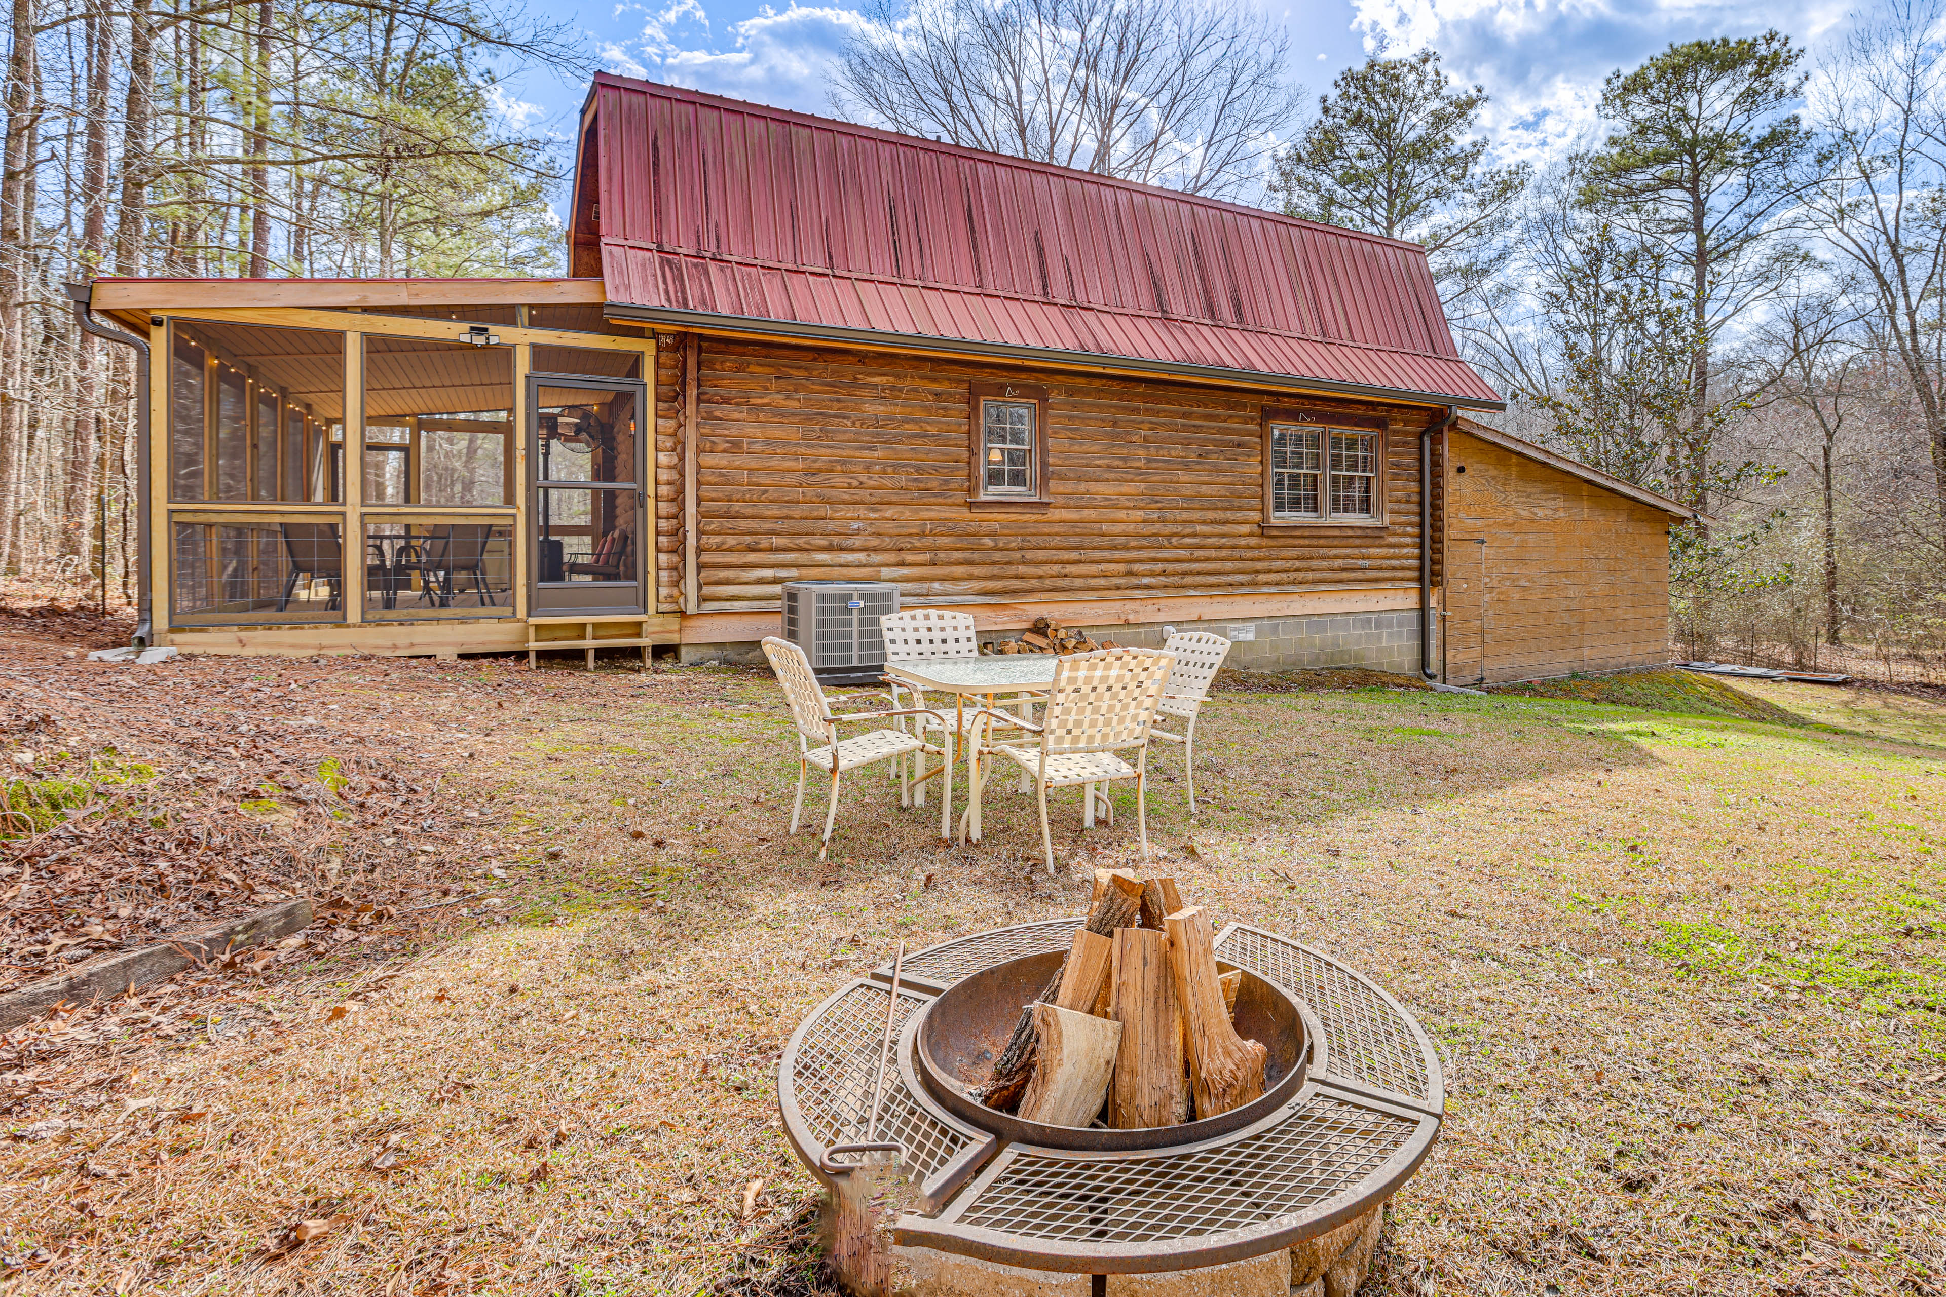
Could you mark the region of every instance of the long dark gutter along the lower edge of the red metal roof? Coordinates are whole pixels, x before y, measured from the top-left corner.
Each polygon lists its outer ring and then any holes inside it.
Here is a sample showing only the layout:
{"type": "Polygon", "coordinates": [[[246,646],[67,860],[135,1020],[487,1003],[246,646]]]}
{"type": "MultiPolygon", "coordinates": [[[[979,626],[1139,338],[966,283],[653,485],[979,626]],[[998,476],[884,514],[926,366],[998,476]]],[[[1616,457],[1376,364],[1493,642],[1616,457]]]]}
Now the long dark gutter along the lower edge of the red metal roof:
{"type": "MultiPolygon", "coordinates": [[[[1364,397],[1372,401],[1405,401],[1411,404],[1444,404],[1452,410],[1504,410],[1504,401],[1458,399],[1452,393],[1423,393],[1399,387],[1372,387],[1368,383],[1343,383],[1337,379],[1310,379],[1294,373],[1269,373],[1263,369],[1232,369],[1226,366],[1197,366],[1183,360],[1146,360],[1136,356],[1115,356],[1109,352],[1078,352],[1059,346],[1027,346],[1022,342],[987,342],[983,338],[946,338],[924,333],[893,333],[887,329],[852,329],[848,325],[808,325],[796,319],[769,319],[761,315],[722,315],[718,311],[687,311],[679,307],[648,307],[627,301],[603,303],[607,319],[640,325],[660,325],[664,329],[683,329],[691,333],[720,333],[732,336],[759,336],[780,342],[841,342],[893,352],[920,352],[932,356],[983,356],[991,360],[1024,360],[1043,366],[1066,366],[1078,369],[1111,373],[1154,373],[1164,377],[1191,379],[1203,383],[1224,383],[1226,387],[1255,387],[1290,393],[1329,393],[1337,397],[1364,397]],[[1452,404],[1460,401],[1460,404],[1452,404]]],[[[1454,414],[1458,418],[1458,414],[1454,414]]],[[[1450,424],[1448,424],[1450,426],[1450,424]]]]}

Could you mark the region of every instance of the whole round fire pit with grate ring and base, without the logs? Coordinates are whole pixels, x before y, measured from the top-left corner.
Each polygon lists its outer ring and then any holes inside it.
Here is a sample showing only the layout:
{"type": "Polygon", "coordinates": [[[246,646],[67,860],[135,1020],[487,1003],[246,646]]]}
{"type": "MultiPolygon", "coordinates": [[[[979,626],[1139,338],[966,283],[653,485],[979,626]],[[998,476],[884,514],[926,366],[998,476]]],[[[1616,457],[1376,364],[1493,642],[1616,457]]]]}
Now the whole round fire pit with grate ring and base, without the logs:
{"type": "MultiPolygon", "coordinates": [[[[1352,1291],[1378,1206],[1438,1138],[1444,1081],[1424,1033],[1327,955],[1230,924],[1216,955],[1245,972],[1238,1029],[1271,1054],[1261,1099],[1152,1130],[985,1108],[967,1089],[1078,926],[1000,928],[919,951],[897,1003],[887,964],[792,1034],[778,1106],[798,1157],[831,1188],[833,1217],[852,1217],[835,1221],[850,1229],[833,1256],[839,1278],[862,1293],[1101,1293],[1103,1276],[1222,1266],[1183,1291],[1352,1291]],[[897,1036],[876,1139],[899,1157],[833,1157],[866,1141],[887,1007],[897,1036]],[[860,1180],[876,1188],[862,1194],[860,1180]],[[872,1233],[862,1248],[860,1213],[872,1233]]],[[[1142,1291],[1168,1289],[1148,1279],[1142,1291]]]]}

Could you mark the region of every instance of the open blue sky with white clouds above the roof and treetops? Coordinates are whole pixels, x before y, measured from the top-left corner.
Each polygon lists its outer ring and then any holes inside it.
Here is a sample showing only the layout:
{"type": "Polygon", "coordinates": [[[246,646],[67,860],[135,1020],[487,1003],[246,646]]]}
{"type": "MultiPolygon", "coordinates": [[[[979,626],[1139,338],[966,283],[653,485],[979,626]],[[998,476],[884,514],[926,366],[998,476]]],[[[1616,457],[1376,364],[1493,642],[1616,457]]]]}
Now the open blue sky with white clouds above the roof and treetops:
{"type": "MultiPolygon", "coordinates": [[[[1493,95],[1483,121],[1502,159],[1545,163],[1592,138],[1602,78],[1672,41],[1753,35],[1769,25],[1816,49],[1845,23],[1843,0],[1238,0],[1263,4],[1290,33],[1292,80],[1315,103],[1374,49],[1432,45],[1456,78],[1493,95]]],[[[831,115],[831,64],[858,25],[845,0],[555,0],[601,66],[804,113],[831,115]]],[[[510,111],[568,134],[586,95],[574,78],[527,72],[510,111]]]]}

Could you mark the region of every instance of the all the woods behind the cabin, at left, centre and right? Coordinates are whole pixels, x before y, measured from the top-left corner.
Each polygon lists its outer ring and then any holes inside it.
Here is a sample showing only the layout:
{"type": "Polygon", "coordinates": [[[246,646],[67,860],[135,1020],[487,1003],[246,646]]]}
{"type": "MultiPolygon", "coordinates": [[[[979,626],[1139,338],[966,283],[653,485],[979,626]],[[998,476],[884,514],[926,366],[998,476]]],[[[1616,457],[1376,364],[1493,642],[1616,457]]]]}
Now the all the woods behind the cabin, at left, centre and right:
{"type": "MultiPolygon", "coordinates": [[[[1946,675],[1946,0],[1810,56],[1672,45],[1541,169],[1438,53],[1302,111],[1280,29],[1207,0],[874,0],[833,105],[1428,249],[1493,422],[1718,521],[1672,535],[1693,655],[1946,675]],[[1901,667],[1903,663],[1903,667],[1901,667]]],[[[132,583],[128,356],[97,274],[560,266],[566,140],[500,74],[584,72],[490,0],[10,0],[0,572],[132,583]]]]}

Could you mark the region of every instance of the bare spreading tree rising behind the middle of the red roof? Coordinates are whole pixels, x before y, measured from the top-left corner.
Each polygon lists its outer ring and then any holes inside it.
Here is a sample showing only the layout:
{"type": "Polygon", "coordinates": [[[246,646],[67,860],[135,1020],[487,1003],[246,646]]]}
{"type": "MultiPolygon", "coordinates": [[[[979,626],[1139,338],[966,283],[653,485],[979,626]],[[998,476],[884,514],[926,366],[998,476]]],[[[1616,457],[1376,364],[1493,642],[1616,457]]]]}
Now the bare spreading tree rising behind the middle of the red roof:
{"type": "Polygon", "coordinates": [[[1296,115],[1288,39],[1216,0],[874,0],[833,105],[905,134],[1253,196],[1296,115]]]}

